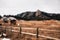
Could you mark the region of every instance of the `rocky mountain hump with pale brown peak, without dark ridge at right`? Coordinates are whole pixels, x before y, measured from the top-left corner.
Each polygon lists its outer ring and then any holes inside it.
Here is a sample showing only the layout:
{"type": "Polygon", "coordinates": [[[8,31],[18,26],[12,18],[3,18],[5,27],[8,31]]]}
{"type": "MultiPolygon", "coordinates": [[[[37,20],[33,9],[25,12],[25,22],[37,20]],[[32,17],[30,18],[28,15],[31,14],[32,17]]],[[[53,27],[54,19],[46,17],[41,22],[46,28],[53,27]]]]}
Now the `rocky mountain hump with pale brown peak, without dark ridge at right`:
{"type": "Polygon", "coordinates": [[[23,12],[21,14],[16,15],[17,18],[22,20],[49,20],[51,19],[48,16],[48,13],[42,12],[40,10],[37,10],[36,12],[23,12]]]}

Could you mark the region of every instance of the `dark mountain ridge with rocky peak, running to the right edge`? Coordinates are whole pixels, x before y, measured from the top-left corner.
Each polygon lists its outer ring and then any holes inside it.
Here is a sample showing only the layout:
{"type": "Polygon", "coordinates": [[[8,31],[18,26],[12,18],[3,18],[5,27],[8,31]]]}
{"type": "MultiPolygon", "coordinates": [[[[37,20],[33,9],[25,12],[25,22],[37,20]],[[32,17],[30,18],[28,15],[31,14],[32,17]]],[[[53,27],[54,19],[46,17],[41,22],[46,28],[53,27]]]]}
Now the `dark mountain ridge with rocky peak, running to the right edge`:
{"type": "Polygon", "coordinates": [[[60,20],[60,14],[47,13],[40,10],[35,12],[27,11],[14,16],[19,20],[60,20]]]}

